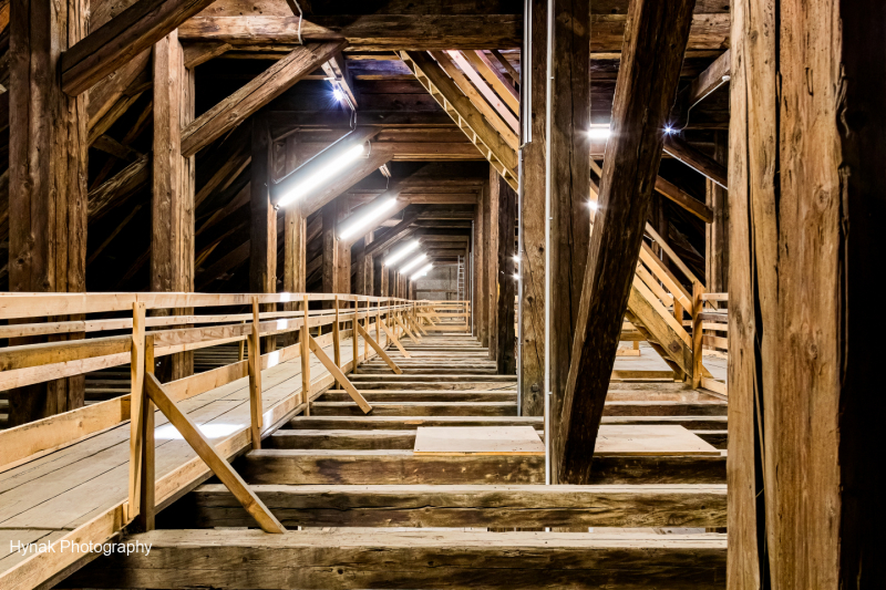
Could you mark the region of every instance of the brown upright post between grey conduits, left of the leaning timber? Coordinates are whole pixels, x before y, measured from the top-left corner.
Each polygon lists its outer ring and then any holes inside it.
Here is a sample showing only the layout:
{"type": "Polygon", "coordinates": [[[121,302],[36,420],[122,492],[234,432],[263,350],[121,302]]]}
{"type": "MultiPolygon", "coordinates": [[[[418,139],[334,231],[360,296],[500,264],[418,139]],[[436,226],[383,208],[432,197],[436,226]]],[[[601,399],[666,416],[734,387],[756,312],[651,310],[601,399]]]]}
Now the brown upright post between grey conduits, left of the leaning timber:
{"type": "MultiPolygon", "coordinates": [[[[547,104],[547,0],[529,3],[532,27],[524,31],[529,45],[532,84],[521,84],[521,104],[530,125],[530,141],[521,148],[521,414],[545,412],[545,108],[547,104]],[[528,99],[528,100],[527,100],[528,99]]],[[[524,72],[523,76],[526,77],[524,72]]],[[[476,313],[476,299],[472,311],[476,313]]]]}

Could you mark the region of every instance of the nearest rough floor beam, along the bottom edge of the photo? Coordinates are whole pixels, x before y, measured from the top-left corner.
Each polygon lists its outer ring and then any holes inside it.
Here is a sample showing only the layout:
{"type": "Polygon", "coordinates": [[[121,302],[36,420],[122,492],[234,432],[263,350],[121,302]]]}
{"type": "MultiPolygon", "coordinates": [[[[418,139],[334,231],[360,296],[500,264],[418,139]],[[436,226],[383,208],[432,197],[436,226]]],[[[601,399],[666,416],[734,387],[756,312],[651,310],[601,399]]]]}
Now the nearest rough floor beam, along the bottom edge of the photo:
{"type": "Polygon", "coordinates": [[[153,530],[151,553],[89,563],[72,588],[722,588],[725,535],[153,530]],[[198,565],[199,567],[195,567],[198,565]]]}

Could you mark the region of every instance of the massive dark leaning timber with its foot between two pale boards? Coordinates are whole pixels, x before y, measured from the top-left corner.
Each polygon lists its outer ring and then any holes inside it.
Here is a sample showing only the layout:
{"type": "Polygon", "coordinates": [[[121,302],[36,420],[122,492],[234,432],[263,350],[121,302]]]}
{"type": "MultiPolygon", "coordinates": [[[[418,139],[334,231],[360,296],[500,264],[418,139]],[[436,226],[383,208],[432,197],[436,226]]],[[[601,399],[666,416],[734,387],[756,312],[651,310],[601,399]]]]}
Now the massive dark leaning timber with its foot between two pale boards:
{"type": "Polygon", "coordinates": [[[590,479],[616,350],[677,93],[696,0],[635,0],[628,14],[602,192],[555,436],[558,483],[590,479]]]}

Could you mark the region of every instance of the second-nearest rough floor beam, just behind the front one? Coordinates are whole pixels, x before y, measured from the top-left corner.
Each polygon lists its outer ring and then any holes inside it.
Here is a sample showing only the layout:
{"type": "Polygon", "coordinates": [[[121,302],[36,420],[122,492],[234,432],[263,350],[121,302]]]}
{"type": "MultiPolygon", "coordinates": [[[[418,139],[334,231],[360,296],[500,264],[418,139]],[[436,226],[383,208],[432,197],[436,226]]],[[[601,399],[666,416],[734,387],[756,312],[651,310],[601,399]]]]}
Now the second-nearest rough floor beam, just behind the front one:
{"type": "MultiPolygon", "coordinates": [[[[725,485],[254,486],[286,527],[724,527],[725,485]]],[[[190,493],[175,528],[254,527],[220,484],[190,493]]]]}

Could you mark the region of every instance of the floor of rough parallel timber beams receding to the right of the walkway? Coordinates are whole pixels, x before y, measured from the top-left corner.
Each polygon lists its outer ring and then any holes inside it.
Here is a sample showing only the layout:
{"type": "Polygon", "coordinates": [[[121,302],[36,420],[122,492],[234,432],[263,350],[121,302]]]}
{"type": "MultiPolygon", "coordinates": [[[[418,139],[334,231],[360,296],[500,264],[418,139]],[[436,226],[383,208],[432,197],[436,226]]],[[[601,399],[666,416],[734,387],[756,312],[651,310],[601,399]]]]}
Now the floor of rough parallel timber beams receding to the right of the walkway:
{"type": "MultiPolygon", "coordinates": [[[[591,486],[545,486],[544,456],[422,456],[416,428],[530,425],[516,379],[466,335],[404,339],[235,462],[287,527],[255,521],[222,485],[202,485],[130,540],[148,557],[100,558],[72,588],[717,588],[725,576],[725,457],[601,454],[591,486]],[[250,530],[245,530],[249,527],[250,530]],[[298,528],[300,527],[300,529],[298,528]],[[602,529],[598,527],[605,527],[602,529]],[[666,527],[697,532],[662,535],[666,527]],[[548,528],[548,530],[545,530],[548,528]],[[506,575],[503,575],[506,572],[506,575]]],[[[344,346],[342,346],[344,350],[344,346]]],[[[682,384],[614,383],[604,428],[682,425],[724,447],[725,404],[682,384]]]]}

